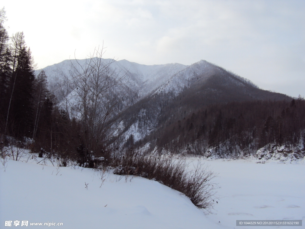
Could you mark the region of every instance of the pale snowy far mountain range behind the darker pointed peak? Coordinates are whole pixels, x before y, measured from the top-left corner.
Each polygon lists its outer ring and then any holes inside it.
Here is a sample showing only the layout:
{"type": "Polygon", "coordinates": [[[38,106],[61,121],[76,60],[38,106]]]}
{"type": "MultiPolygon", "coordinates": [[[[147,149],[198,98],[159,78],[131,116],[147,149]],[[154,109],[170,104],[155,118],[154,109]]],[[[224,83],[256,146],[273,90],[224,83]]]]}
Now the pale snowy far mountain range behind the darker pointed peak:
{"type": "MultiPolygon", "coordinates": [[[[104,65],[113,62],[112,59],[101,60],[104,65]]],[[[39,74],[40,71],[44,70],[48,77],[51,91],[57,94],[59,83],[61,83],[65,77],[71,78],[72,66],[79,67],[79,63],[81,67],[84,67],[86,61],[88,60],[64,60],[58,64],[40,69],[36,71],[36,74],[39,74]]],[[[129,62],[127,60],[119,60],[110,64],[109,71],[115,71],[119,75],[119,78],[123,77],[123,83],[133,91],[138,91],[139,96],[146,96],[153,90],[158,89],[160,85],[167,82],[185,67],[187,66],[177,63],[144,65],[129,62]]]]}

